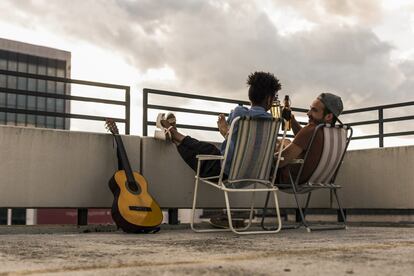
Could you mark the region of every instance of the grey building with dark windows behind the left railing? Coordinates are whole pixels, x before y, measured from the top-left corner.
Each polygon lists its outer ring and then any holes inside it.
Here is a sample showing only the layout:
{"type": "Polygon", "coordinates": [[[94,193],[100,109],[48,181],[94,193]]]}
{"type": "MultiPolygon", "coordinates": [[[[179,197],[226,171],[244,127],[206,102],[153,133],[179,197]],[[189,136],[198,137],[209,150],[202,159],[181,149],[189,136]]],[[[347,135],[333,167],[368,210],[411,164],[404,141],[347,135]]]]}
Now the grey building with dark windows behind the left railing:
{"type": "MultiPolygon", "coordinates": [[[[0,70],[70,78],[71,53],[0,38],[0,70]]],[[[69,112],[69,101],[37,95],[41,93],[70,94],[70,85],[0,74],[0,124],[69,129],[69,119],[27,113],[69,112]],[[18,94],[19,91],[28,91],[31,95],[18,94]]],[[[50,210],[47,209],[36,212],[24,208],[1,208],[0,224],[34,224],[37,220],[42,221],[48,212],[50,210]]]]}

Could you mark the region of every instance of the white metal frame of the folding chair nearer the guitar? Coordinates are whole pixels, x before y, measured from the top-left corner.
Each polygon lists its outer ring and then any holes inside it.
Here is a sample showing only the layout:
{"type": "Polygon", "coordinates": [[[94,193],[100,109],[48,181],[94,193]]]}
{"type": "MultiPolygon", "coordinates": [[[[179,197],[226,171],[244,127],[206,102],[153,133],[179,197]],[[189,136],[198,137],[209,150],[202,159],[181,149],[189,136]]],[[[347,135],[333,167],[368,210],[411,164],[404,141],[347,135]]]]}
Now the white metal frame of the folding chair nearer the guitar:
{"type": "MultiPolygon", "coordinates": [[[[191,214],[191,220],[190,220],[190,225],[191,225],[191,229],[195,232],[224,232],[224,231],[232,231],[233,233],[236,234],[268,234],[268,233],[277,233],[280,231],[280,229],[282,228],[282,221],[280,219],[280,211],[279,211],[279,203],[278,203],[278,199],[277,199],[277,194],[276,192],[278,191],[278,188],[275,186],[275,179],[276,179],[276,171],[277,171],[277,166],[279,164],[279,159],[276,158],[272,158],[272,164],[275,164],[276,169],[274,169],[273,175],[271,177],[271,179],[236,179],[236,180],[223,180],[223,176],[224,176],[224,167],[226,164],[226,160],[228,158],[228,152],[229,152],[229,148],[230,148],[230,144],[232,141],[232,136],[234,134],[234,129],[236,124],[238,124],[240,122],[240,120],[245,120],[245,119],[250,119],[250,120],[264,120],[263,118],[261,119],[255,119],[255,118],[248,118],[248,117],[237,117],[233,120],[230,130],[229,130],[229,137],[228,137],[228,142],[226,145],[226,150],[225,150],[225,154],[224,156],[221,155],[198,155],[197,159],[198,159],[198,166],[197,166],[197,174],[195,176],[195,186],[194,186],[194,198],[193,198],[193,206],[192,206],[192,214],[191,214]],[[221,166],[221,172],[220,175],[218,176],[211,176],[211,177],[201,177],[200,176],[200,166],[201,166],[201,162],[206,161],[206,160],[221,160],[222,161],[222,166],[221,166]],[[218,178],[218,182],[213,181],[213,179],[217,180],[218,178]],[[254,185],[253,188],[232,188],[232,187],[228,187],[228,184],[237,184],[237,183],[242,183],[242,182],[253,182],[254,185]],[[227,210],[227,219],[229,222],[229,228],[225,228],[225,229],[197,229],[194,225],[194,220],[195,220],[195,209],[196,209],[196,203],[197,203],[197,192],[198,192],[198,187],[199,187],[199,183],[206,183],[208,185],[210,185],[211,187],[214,187],[218,190],[221,190],[224,192],[224,197],[225,197],[225,203],[226,203],[226,210],[227,210]],[[258,185],[262,185],[264,186],[263,188],[257,188],[258,185]],[[252,196],[251,196],[251,201],[250,201],[250,213],[249,213],[249,221],[247,226],[242,227],[242,228],[235,228],[233,226],[232,223],[232,215],[231,215],[231,207],[230,207],[230,201],[229,201],[229,194],[230,192],[251,192],[252,196]],[[273,198],[274,198],[274,202],[275,202],[275,210],[276,210],[276,221],[275,221],[275,225],[277,225],[274,229],[271,230],[261,230],[261,231],[247,231],[251,225],[252,225],[252,220],[253,220],[253,213],[254,213],[254,199],[255,199],[255,193],[256,192],[268,192],[268,197],[267,197],[267,201],[269,201],[269,196],[272,193],[273,194],[273,198]]],[[[267,119],[265,119],[267,120],[267,119]]],[[[272,120],[274,123],[277,124],[276,126],[276,134],[274,135],[274,139],[273,141],[268,141],[268,143],[274,143],[274,145],[276,145],[276,141],[277,141],[277,132],[279,131],[280,125],[281,125],[281,119],[275,119],[275,118],[269,118],[268,120],[272,120]]],[[[250,133],[249,133],[250,135],[250,133]]],[[[237,138],[237,137],[236,137],[237,138]]],[[[233,153],[233,157],[234,155],[237,154],[237,152],[233,153]]],[[[257,161],[257,160],[256,160],[257,161]]],[[[260,162],[260,160],[259,160],[260,162]]],[[[249,186],[251,186],[249,185],[249,186]]],[[[234,186],[233,186],[234,187],[234,186]]]]}

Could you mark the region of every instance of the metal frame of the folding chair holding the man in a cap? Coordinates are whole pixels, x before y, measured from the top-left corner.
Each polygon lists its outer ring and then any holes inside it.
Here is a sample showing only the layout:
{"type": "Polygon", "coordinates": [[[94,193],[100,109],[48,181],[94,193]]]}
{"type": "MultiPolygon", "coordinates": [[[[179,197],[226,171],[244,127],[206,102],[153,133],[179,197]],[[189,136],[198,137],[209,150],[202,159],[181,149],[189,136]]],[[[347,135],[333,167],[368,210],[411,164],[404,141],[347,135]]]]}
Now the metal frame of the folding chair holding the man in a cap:
{"type": "MultiPolygon", "coordinates": [[[[292,226],[291,227],[283,227],[283,229],[290,229],[290,228],[295,228],[296,229],[296,228],[299,228],[301,226],[304,226],[308,232],[311,232],[311,231],[337,230],[337,229],[346,229],[347,228],[347,226],[346,226],[346,216],[345,216],[344,210],[342,209],[342,206],[341,206],[341,203],[340,203],[340,200],[339,200],[339,197],[338,197],[338,193],[337,193],[337,189],[340,189],[342,187],[340,185],[335,184],[335,179],[336,179],[338,171],[339,171],[339,169],[340,169],[340,167],[343,163],[343,159],[344,159],[345,153],[348,149],[349,142],[351,141],[352,134],[353,134],[352,128],[349,127],[349,126],[346,126],[346,125],[331,126],[330,124],[320,124],[315,128],[315,130],[312,134],[311,140],[309,142],[309,146],[308,146],[308,149],[305,153],[304,158],[303,159],[295,159],[290,163],[290,164],[295,164],[295,163],[296,164],[301,164],[298,175],[296,176],[296,178],[294,178],[292,176],[292,173],[289,170],[290,183],[278,183],[278,184],[276,184],[276,186],[278,186],[280,188],[279,190],[281,192],[285,192],[285,193],[289,193],[289,194],[294,195],[295,202],[296,202],[296,205],[297,205],[297,208],[298,208],[298,211],[299,211],[299,214],[300,214],[300,218],[301,218],[301,222],[299,224],[296,224],[293,227],[292,226]],[[310,149],[311,149],[311,147],[313,145],[313,142],[315,140],[316,134],[321,128],[325,128],[325,127],[342,128],[342,129],[345,129],[345,131],[347,132],[346,133],[346,138],[345,138],[346,139],[345,147],[343,149],[343,152],[341,153],[339,162],[338,162],[337,166],[333,168],[334,172],[332,174],[332,177],[330,177],[327,182],[325,182],[325,183],[312,183],[312,182],[308,181],[306,183],[301,184],[301,183],[299,183],[300,177],[301,177],[301,174],[303,172],[304,165],[306,164],[306,160],[308,158],[310,149]],[[338,204],[339,214],[341,216],[341,222],[342,222],[341,224],[336,224],[336,225],[332,225],[332,226],[315,227],[315,226],[311,226],[306,221],[306,211],[309,207],[309,202],[310,202],[310,199],[311,199],[312,192],[314,190],[317,190],[317,189],[329,189],[330,190],[330,199],[331,199],[331,202],[330,202],[331,206],[330,207],[331,208],[333,208],[332,194],[335,196],[336,202],[338,204]],[[304,206],[304,208],[302,208],[300,203],[299,203],[298,194],[306,194],[306,193],[308,194],[308,196],[306,198],[305,206],[304,206]]],[[[324,132],[324,135],[325,135],[325,132],[324,132]]],[[[326,139],[325,136],[324,136],[324,139],[326,139]]],[[[324,144],[324,146],[325,145],[326,144],[324,144]]],[[[263,209],[263,216],[262,216],[261,226],[262,226],[263,229],[272,230],[272,228],[264,226],[264,218],[266,216],[268,202],[269,202],[269,193],[267,194],[265,206],[264,206],[264,209],[263,209]]]]}

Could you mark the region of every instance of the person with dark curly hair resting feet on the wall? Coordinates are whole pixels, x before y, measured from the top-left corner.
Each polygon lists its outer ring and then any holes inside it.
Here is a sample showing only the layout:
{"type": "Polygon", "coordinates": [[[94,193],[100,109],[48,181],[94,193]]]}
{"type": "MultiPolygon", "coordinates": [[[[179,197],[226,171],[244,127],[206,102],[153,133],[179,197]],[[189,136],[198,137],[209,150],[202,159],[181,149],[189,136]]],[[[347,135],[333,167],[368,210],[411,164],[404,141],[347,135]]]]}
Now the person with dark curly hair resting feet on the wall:
{"type": "MultiPolygon", "coordinates": [[[[249,99],[251,107],[237,106],[230,112],[226,121],[224,114],[220,114],[217,120],[217,125],[221,135],[224,137],[224,142],[221,149],[210,143],[198,141],[190,136],[186,136],[177,131],[175,127],[174,115],[169,114],[166,118],[159,116],[160,124],[164,128],[165,136],[169,137],[172,142],[177,145],[177,150],[184,161],[194,170],[197,171],[197,158],[199,154],[208,155],[224,155],[227,144],[227,136],[231,122],[240,116],[250,116],[253,118],[271,118],[272,115],[267,111],[271,108],[272,102],[276,93],[281,89],[279,80],[271,73],[254,72],[248,76],[247,84],[249,85],[249,99]]],[[[235,130],[236,132],[237,130],[235,130]]],[[[230,145],[229,151],[231,160],[233,155],[233,147],[230,145]]],[[[225,166],[225,174],[228,174],[229,166],[225,166]]],[[[200,168],[200,175],[202,177],[217,176],[221,171],[220,160],[209,160],[203,162],[200,168]]]]}

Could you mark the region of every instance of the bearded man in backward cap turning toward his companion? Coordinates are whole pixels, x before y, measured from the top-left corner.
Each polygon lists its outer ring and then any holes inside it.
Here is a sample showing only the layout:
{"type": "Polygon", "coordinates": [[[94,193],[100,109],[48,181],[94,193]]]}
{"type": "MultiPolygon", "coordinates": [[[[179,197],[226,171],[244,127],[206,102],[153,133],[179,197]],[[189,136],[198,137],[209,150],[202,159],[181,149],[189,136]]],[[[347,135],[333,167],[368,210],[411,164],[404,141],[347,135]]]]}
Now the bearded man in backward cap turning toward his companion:
{"type": "MultiPolygon", "coordinates": [[[[295,116],[292,114],[292,130],[295,134],[295,138],[282,151],[283,160],[281,160],[279,164],[279,181],[281,183],[289,182],[289,175],[286,166],[293,159],[303,159],[315,128],[319,124],[335,124],[338,121],[338,117],[341,114],[342,110],[343,104],[340,97],[331,93],[322,93],[312,102],[310,106],[310,109],[307,113],[309,123],[306,126],[302,127],[298,121],[296,121],[295,116]]],[[[304,169],[302,171],[299,183],[304,183],[311,177],[313,171],[318,166],[322,155],[322,149],[323,132],[318,131],[312,144],[312,148],[309,151],[306,164],[304,164],[304,169]]],[[[297,175],[299,166],[289,166],[292,174],[297,175]]]]}

